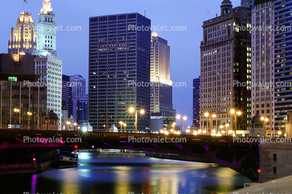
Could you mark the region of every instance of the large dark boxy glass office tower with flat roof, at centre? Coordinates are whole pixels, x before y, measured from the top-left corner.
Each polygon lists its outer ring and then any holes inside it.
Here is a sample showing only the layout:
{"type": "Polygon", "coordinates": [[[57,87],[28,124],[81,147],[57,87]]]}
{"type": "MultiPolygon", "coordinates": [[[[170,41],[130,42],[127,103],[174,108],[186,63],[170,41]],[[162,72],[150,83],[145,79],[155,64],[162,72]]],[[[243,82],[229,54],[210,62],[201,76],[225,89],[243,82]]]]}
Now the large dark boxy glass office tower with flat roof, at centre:
{"type": "Polygon", "coordinates": [[[149,129],[151,21],[138,13],[89,18],[89,123],[93,130],[127,124],[135,130],[131,105],[145,108],[138,130],[149,129]],[[145,83],[147,83],[145,85],[145,83]]]}

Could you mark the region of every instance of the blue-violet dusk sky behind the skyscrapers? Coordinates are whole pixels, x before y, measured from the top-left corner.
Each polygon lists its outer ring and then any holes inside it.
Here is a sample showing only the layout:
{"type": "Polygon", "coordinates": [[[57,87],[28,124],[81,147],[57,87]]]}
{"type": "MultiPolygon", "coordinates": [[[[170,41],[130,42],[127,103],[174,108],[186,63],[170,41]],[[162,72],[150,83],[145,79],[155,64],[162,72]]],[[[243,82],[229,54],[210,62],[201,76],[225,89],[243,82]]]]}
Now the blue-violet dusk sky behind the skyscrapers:
{"type": "MultiPolygon", "coordinates": [[[[32,14],[35,25],[43,0],[1,0],[0,53],[8,52],[10,29],[16,28],[20,12],[32,14]]],[[[173,87],[173,109],[187,115],[184,126],[192,123],[192,82],[200,75],[200,41],[202,24],[220,15],[223,0],[51,0],[57,27],[81,27],[81,31],[57,31],[57,53],[63,60],[63,74],[79,74],[86,78],[88,90],[89,17],[119,13],[140,13],[151,20],[152,27],[185,27],[186,31],[156,31],[170,45],[170,79],[186,82],[187,87],[173,87]]],[[[232,1],[232,0],[231,0],[232,1]]],[[[233,7],[240,0],[233,0],[233,7]]],[[[80,28],[79,28],[80,29],[80,28]]],[[[87,91],[88,94],[88,91],[87,91]]]]}

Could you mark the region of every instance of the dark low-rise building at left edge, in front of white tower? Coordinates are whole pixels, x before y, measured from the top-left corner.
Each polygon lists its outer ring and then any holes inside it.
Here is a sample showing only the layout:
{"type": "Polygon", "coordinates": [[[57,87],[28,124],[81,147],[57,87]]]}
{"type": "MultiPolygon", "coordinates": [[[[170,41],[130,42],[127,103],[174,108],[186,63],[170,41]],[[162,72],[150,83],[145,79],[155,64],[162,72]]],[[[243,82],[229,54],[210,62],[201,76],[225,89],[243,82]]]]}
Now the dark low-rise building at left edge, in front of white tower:
{"type": "Polygon", "coordinates": [[[38,77],[33,55],[0,54],[0,129],[39,130],[45,124],[47,87],[32,84],[38,77]]]}

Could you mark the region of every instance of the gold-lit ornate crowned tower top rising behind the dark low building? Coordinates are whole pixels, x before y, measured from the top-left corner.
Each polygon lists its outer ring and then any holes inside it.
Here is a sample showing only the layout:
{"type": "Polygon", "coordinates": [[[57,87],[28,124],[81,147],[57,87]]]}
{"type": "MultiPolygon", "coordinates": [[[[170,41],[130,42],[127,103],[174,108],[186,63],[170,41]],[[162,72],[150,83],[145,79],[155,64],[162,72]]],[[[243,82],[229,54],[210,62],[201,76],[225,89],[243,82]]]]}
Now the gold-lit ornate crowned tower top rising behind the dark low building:
{"type": "Polygon", "coordinates": [[[17,19],[16,29],[10,30],[10,40],[8,41],[8,53],[24,52],[31,54],[36,50],[36,31],[34,31],[34,20],[31,14],[24,11],[17,19]]]}

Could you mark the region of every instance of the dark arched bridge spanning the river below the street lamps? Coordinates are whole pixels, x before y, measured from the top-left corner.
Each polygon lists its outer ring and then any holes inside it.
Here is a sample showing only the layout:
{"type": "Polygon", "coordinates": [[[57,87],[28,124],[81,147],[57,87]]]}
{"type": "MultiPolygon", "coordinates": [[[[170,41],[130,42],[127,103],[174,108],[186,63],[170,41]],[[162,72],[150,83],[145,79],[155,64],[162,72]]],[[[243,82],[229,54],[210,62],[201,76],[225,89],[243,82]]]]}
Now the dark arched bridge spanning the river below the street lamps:
{"type": "Polygon", "coordinates": [[[250,137],[253,139],[249,141],[238,138],[238,142],[233,142],[232,136],[0,130],[0,156],[21,154],[29,161],[55,149],[91,149],[92,146],[101,149],[132,149],[202,158],[210,163],[230,167],[252,181],[258,181],[259,137],[250,137]]]}

